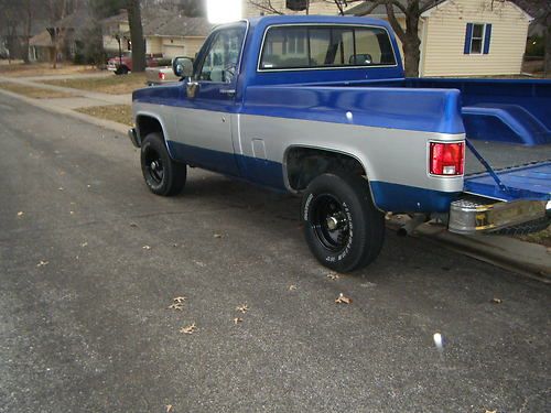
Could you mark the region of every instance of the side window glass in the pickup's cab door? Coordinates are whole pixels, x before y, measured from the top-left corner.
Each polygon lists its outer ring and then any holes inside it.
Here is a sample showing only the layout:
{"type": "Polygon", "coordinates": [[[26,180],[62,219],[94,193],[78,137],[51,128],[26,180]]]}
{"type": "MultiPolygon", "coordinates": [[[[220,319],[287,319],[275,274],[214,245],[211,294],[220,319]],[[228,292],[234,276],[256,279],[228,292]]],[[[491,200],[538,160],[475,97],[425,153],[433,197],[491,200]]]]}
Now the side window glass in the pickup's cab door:
{"type": "Polygon", "coordinates": [[[208,51],[203,56],[198,80],[231,83],[237,73],[239,53],[245,37],[245,25],[215,33],[208,51]]]}

